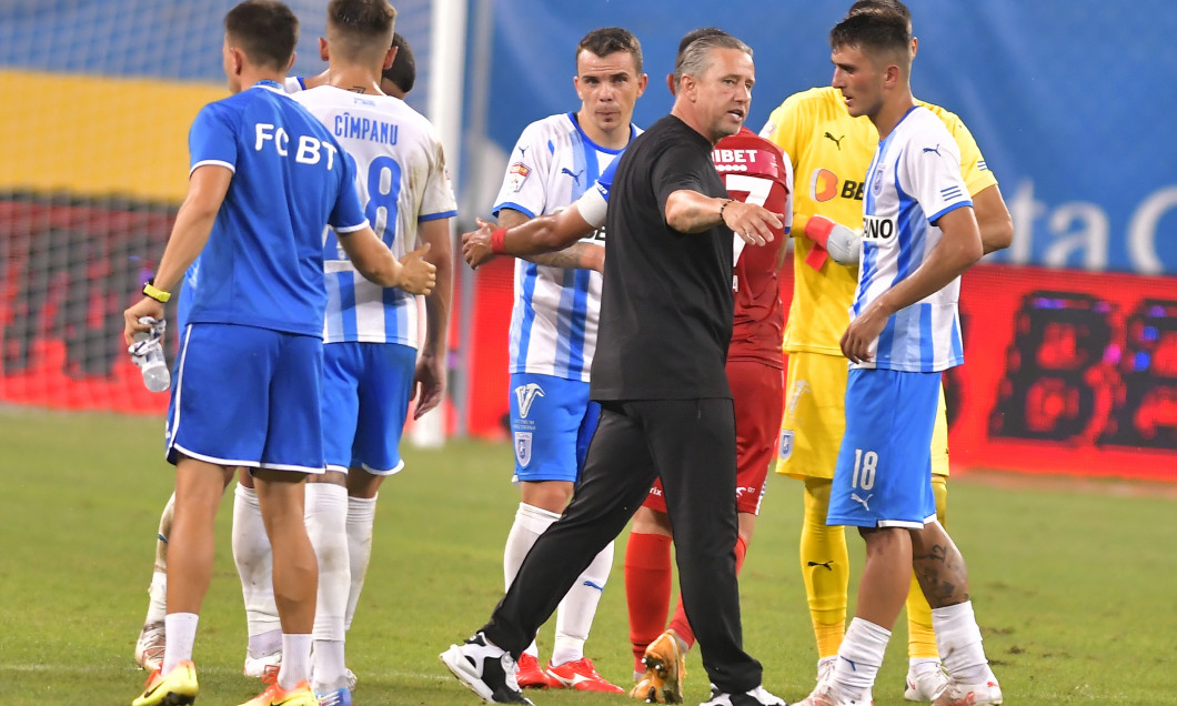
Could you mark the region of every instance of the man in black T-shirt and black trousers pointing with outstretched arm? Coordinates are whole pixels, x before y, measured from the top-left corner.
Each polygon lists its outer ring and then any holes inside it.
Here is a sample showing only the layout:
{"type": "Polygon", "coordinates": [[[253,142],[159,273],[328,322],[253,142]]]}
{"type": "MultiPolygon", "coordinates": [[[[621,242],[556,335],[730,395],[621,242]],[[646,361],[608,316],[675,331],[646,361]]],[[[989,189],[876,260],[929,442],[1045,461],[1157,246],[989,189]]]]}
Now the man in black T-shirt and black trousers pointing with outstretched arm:
{"type": "MultiPolygon", "coordinates": [[[[619,159],[605,222],[600,327],[590,393],[601,404],[572,502],[540,535],[478,634],[443,661],[485,699],[528,704],[514,659],[592,558],[625,528],[656,477],[674,528],[683,605],[714,685],[707,704],[784,705],[744,652],[736,582],[736,421],[724,365],[732,331],[732,233],[772,239],[780,214],[727,197],[711,149],[747,116],[752,51],[690,44],[671,114],[619,159]]],[[[679,665],[669,665],[677,671],[679,665]]]]}

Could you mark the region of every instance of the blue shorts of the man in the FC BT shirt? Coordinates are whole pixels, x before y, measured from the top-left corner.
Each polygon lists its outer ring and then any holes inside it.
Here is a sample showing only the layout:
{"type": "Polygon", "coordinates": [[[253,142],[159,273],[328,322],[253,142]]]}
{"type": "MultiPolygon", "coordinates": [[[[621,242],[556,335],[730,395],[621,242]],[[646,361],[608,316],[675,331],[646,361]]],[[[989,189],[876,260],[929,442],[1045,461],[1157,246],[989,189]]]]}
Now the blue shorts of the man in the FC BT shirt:
{"type": "Polygon", "coordinates": [[[322,473],[322,340],[191,324],[167,411],[167,460],[322,473]]]}

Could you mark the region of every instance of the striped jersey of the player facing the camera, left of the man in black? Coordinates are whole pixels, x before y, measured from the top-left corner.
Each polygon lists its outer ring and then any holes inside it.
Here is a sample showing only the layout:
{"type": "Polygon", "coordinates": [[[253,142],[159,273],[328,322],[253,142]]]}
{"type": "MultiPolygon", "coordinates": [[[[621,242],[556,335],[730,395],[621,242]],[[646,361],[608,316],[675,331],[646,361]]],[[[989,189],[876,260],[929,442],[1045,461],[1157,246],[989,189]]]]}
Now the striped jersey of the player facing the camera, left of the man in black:
{"type": "MultiPolygon", "coordinates": [[[[630,139],[639,134],[630,126],[630,139]]],[[[592,187],[623,152],[596,145],[572,113],[528,125],[511,153],[494,214],[512,208],[528,217],[567,207],[592,187]]],[[[586,240],[604,245],[598,229],[586,240]]],[[[597,348],[600,274],[516,260],[511,313],[511,372],[588,381],[597,348]]]]}

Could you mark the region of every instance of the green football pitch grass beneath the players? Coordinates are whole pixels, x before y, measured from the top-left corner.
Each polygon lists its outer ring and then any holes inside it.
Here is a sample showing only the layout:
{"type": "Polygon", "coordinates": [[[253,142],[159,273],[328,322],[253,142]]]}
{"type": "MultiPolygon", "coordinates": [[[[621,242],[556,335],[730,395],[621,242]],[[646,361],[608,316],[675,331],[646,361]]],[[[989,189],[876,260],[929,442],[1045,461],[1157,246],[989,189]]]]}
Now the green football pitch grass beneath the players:
{"type": "MultiPolygon", "coordinates": [[[[0,702],[129,704],[146,678],[132,652],[147,604],[159,512],[172,487],[155,418],[0,408],[0,702]]],[[[503,592],[503,542],[518,493],[505,444],[406,449],[384,485],[372,567],[348,635],[360,705],[471,705],[438,660],[503,592]]],[[[1177,704],[1177,488],[971,473],[950,481],[949,527],[969,561],[985,648],[1006,704],[1177,704]]],[[[241,675],[245,619],[230,552],[232,500],[195,660],[198,704],[260,691],[241,675]]],[[[797,542],[800,484],[771,477],[740,577],[744,638],[765,686],[796,701],[817,652],[797,542]]],[[[863,553],[849,537],[856,590],[863,553]]],[[[586,646],[629,686],[624,538],[586,646]]],[[[853,601],[853,599],[851,599],[853,601]]],[[[552,625],[539,638],[546,659],[552,625]]],[[[906,626],[896,626],[875,704],[903,700],[906,626]]],[[[621,695],[528,692],[538,706],[621,695]]],[[[698,658],[686,702],[707,698],[698,658]]]]}

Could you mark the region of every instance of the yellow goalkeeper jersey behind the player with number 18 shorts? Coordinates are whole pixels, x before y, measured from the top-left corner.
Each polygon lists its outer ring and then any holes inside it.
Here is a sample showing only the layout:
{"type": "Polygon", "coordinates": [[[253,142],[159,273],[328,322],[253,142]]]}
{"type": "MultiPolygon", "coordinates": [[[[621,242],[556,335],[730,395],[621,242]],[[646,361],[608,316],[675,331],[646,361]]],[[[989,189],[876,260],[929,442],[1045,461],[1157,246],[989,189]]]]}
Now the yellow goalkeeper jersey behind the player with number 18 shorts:
{"type": "MultiPolygon", "coordinates": [[[[956,113],[924,101],[960,148],[960,173],[970,194],[997,184],[972,133],[956,113]]],[[[780,104],[760,131],[793,162],[793,302],[785,322],[785,353],[842,355],[838,341],[850,325],[850,305],[858,271],[827,259],[820,269],[805,262],[813,241],[805,238],[812,215],[849,228],[863,226],[863,185],[879,134],[869,118],[851,118],[842,92],[833,87],[794,93],[780,104]]]]}

